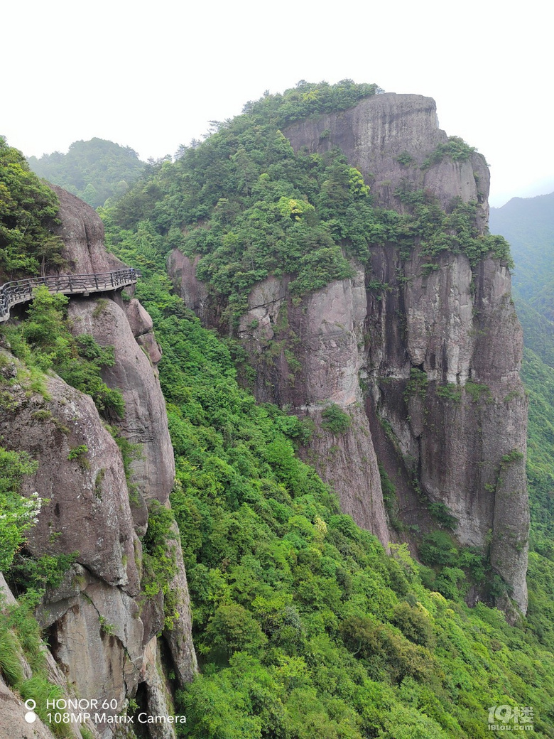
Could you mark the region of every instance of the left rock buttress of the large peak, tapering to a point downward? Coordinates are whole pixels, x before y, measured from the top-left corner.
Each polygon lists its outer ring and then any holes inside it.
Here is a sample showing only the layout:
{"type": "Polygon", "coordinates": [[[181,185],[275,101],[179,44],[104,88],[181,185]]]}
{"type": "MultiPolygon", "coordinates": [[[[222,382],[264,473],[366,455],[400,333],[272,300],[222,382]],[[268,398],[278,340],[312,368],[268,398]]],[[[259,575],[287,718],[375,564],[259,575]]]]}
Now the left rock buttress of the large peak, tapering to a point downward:
{"type": "Polygon", "coordinates": [[[286,283],[264,280],[250,293],[239,336],[256,361],[256,397],[312,418],[316,432],[304,457],[332,483],[343,511],[387,547],[379,470],[358,382],[366,290],[363,268],[355,268],[353,279],[332,282],[301,305],[293,304],[286,283]],[[322,413],[331,404],[352,418],[338,435],[322,425],[322,413]]]}

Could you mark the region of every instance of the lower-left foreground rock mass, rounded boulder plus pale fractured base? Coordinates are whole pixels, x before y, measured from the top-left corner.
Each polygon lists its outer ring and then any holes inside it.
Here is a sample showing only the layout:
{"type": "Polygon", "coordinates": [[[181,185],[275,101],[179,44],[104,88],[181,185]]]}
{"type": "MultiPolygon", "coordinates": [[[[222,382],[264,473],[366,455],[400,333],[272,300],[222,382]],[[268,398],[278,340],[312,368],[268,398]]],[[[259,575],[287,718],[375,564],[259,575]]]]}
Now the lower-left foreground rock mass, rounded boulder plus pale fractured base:
{"type": "Polygon", "coordinates": [[[39,620],[64,681],[79,695],[115,698],[121,710],[140,680],[145,624],[136,602],[142,549],[120,451],[92,400],[59,378],[49,378],[49,398],[25,386],[9,392],[4,446],[38,461],[22,492],[44,499],[27,550],[77,559],[45,596],[39,620]],[[86,451],[70,460],[75,449],[86,451]]]}

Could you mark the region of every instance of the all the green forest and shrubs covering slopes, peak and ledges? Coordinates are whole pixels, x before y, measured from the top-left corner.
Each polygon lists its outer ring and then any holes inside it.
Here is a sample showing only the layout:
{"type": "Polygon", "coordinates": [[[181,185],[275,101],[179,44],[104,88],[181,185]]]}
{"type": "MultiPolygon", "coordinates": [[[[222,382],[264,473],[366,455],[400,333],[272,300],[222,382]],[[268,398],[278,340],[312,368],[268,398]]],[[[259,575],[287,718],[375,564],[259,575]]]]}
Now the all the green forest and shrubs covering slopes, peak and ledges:
{"type": "MultiPolygon", "coordinates": [[[[151,163],[124,194],[92,203],[122,196],[98,211],[106,245],[141,270],[137,298],[163,348],[160,382],[177,472],[172,513],[156,505],[150,511],[143,587],[165,592],[171,628],[172,564],[158,555],[174,517],[199,657],[199,674],[174,695],[176,711],[187,717],[178,727],[182,737],[479,739],[490,737],[496,706],[526,707],[521,723],[533,722],[527,733],[554,737],[554,369],[544,353],[528,347],[523,369],[530,605],[510,625],[493,607],[466,605],[469,579],[482,562],[459,551],[448,531],[428,539],[423,565],[405,544],[386,554],[341,513],[335,493],[296,453],[313,432],[310,424],[256,403],[238,381],[245,361],[239,344],[202,327],[168,278],[172,248],[202,255],[198,275],[233,327],[248,291],[268,274],[292,274],[291,290],[301,299],[350,276],[346,257],[366,261],[370,243],[392,242],[409,253],[417,242],[430,265],[444,251],[465,253],[472,264],[492,255],[510,265],[505,239],[476,231],[475,205],[455,202],[446,213],[426,191],[401,191],[409,214],[373,208],[369,188],[341,151],[295,154],[282,133],[287,123],[346,109],[377,91],[343,81],[264,95],[174,162],[151,163]]],[[[57,263],[48,236],[55,201],[44,205],[44,183],[2,146],[0,156],[10,158],[0,160],[0,239],[11,261],[1,270],[35,273],[41,260],[57,263]],[[35,246],[18,240],[25,208],[35,219],[35,246]],[[49,243],[47,256],[37,243],[49,243]]],[[[456,152],[457,145],[441,156],[456,152]]],[[[89,184],[100,192],[92,174],[89,184]]],[[[36,381],[53,369],[92,395],[100,412],[124,412],[117,391],[110,394],[101,381],[112,356],[86,338],[70,338],[63,300],[38,294],[26,319],[1,333],[36,381]]],[[[0,389],[9,381],[1,378],[0,389]]],[[[341,433],[343,419],[331,414],[327,422],[341,433]]],[[[18,494],[33,460],[13,454],[0,449],[0,471],[10,470],[0,503],[11,511],[0,520],[7,542],[0,565],[8,579],[10,572],[18,582],[27,577],[27,596],[18,619],[1,617],[0,670],[26,695],[24,676],[9,675],[3,655],[13,654],[24,629],[30,633],[30,604],[69,562],[34,578],[14,565],[33,520],[18,494]]]]}

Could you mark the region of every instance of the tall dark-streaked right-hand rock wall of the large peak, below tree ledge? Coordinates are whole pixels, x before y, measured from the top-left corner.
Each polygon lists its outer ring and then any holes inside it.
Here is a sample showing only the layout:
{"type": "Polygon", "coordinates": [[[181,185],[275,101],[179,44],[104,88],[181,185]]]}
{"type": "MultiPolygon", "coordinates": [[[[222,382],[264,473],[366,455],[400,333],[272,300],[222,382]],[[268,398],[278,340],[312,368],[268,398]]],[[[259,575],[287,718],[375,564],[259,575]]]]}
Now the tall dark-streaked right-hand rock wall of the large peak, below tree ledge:
{"type": "Polygon", "coordinates": [[[372,251],[372,275],[389,286],[368,293],[367,409],[389,427],[387,438],[373,423],[373,437],[398,483],[400,517],[430,528],[425,498],[406,485],[416,478],[456,517],[462,545],[485,550],[492,533],[491,562],[525,610],[527,401],[510,273],[485,259],[472,275],[465,256],[448,255],[425,277],[421,263],[417,251],[403,267],[394,251],[372,251]]]}

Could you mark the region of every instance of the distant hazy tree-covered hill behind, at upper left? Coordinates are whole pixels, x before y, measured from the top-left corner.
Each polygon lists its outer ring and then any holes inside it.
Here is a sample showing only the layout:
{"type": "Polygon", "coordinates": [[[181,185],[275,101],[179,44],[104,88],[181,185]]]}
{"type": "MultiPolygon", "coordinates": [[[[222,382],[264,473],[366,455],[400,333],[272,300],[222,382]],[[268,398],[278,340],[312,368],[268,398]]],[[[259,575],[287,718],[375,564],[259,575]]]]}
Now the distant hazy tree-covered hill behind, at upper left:
{"type": "Polygon", "coordinates": [[[129,146],[99,138],[75,141],[67,154],[54,151],[40,159],[29,157],[29,164],[39,177],[61,185],[93,208],[125,194],[145,167],[129,146]]]}

